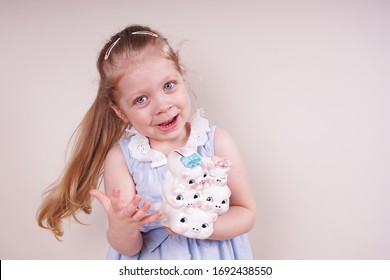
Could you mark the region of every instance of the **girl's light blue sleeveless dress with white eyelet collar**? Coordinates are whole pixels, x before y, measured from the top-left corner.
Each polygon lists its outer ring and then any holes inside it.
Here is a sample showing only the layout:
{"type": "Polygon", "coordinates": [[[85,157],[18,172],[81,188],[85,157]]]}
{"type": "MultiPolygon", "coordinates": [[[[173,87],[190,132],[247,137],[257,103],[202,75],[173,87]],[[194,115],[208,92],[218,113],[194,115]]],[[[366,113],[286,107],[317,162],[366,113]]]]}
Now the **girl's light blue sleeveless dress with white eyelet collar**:
{"type": "MultiPolygon", "coordinates": [[[[214,155],[215,127],[197,111],[191,121],[191,133],[187,147],[193,148],[201,156],[214,155]]],[[[143,201],[152,204],[162,201],[162,182],[167,172],[166,157],[152,150],[149,141],[134,129],[130,136],[120,141],[120,147],[136,185],[136,191],[143,201]]],[[[143,202],[141,201],[141,203],[143,202]]],[[[252,259],[252,252],[246,234],[229,240],[201,240],[182,235],[172,236],[158,223],[141,228],[143,247],[134,256],[118,253],[111,246],[107,259],[122,260],[230,260],[252,259]]]]}

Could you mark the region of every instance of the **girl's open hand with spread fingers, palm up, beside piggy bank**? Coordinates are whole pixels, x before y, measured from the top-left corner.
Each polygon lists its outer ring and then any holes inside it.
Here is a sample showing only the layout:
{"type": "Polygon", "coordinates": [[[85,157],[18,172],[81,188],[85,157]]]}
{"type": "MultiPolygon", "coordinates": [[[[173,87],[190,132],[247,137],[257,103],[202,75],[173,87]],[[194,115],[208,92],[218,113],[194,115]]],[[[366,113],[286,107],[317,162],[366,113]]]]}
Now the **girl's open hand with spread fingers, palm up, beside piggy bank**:
{"type": "Polygon", "coordinates": [[[157,221],[162,211],[157,210],[153,214],[148,214],[151,204],[145,201],[140,208],[140,195],[135,195],[133,199],[125,204],[120,199],[120,190],[115,188],[112,191],[111,198],[98,190],[91,190],[90,194],[95,197],[103,206],[107,213],[111,229],[122,233],[133,234],[139,231],[143,225],[157,221]]]}

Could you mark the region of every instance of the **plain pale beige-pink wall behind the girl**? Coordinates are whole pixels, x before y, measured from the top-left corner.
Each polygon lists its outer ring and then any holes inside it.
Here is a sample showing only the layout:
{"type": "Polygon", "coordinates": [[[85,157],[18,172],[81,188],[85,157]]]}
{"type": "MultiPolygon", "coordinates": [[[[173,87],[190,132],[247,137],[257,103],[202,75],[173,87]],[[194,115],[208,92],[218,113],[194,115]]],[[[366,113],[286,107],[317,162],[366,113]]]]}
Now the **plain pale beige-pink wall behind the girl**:
{"type": "Polygon", "coordinates": [[[257,259],[390,259],[390,2],[0,1],[1,259],[102,259],[103,210],[37,227],[44,189],[128,24],[182,46],[210,121],[241,147],[257,259]]]}

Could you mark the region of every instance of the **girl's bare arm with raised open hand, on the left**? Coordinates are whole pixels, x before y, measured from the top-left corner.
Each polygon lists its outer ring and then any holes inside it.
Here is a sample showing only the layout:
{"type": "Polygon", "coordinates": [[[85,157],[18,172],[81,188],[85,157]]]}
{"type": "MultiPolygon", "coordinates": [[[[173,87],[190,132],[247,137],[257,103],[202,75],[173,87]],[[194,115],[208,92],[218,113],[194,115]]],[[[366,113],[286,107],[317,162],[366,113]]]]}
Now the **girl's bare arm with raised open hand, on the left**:
{"type": "Polygon", "coordinates": [[[108,242],[123,255],[137,254],[143,243],[140,227],[156,221],[161,212],[156,211],[148,215],[149,202],[145,202],[138,209],[141,196],[135,194],[134,181],[119,145],[115,145],[107,155],[104,186],[106,194],[97,190],[91,194],[99,200],[108,215],[108,242]]]}

